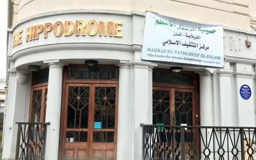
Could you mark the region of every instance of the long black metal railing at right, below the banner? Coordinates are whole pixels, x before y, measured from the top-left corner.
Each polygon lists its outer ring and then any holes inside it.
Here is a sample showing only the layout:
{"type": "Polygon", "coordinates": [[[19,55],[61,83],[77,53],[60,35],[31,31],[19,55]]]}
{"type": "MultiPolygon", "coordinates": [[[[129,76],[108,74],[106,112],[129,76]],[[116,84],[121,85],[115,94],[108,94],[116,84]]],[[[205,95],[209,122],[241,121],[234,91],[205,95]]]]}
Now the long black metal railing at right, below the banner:
{"type": "Polygon", "coordinates": [[[256,127],[145,125],[143,159],[256,159],[256,127]]]}

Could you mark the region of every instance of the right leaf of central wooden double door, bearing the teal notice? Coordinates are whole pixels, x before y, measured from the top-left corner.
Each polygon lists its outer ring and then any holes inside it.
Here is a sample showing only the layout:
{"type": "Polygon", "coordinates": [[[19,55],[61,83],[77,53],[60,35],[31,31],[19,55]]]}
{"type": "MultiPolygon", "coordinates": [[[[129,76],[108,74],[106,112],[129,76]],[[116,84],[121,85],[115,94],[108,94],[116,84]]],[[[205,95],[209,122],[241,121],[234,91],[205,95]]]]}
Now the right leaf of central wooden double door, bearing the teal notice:
{"type": "Polygon", "coordinates": [[[116,85],[95,85],[91,159],[116,159],[116,85]]]}

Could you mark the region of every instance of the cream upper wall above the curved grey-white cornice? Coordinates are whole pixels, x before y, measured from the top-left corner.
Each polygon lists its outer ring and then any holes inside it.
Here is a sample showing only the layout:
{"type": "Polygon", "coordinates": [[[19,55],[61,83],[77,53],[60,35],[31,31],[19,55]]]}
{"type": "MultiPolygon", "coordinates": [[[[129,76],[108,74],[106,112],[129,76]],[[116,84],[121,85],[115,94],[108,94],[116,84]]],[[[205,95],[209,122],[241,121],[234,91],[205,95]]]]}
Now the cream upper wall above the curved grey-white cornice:
{"type": "Polygon", "coordinates": [[[16,24],[19,20],[39,13],[60,10],[102,9],[151,11],[193,22],[220,24],[227,28],[256,31],[255,8],[255,0],[14,0],[13,23],[16,24]]]}

